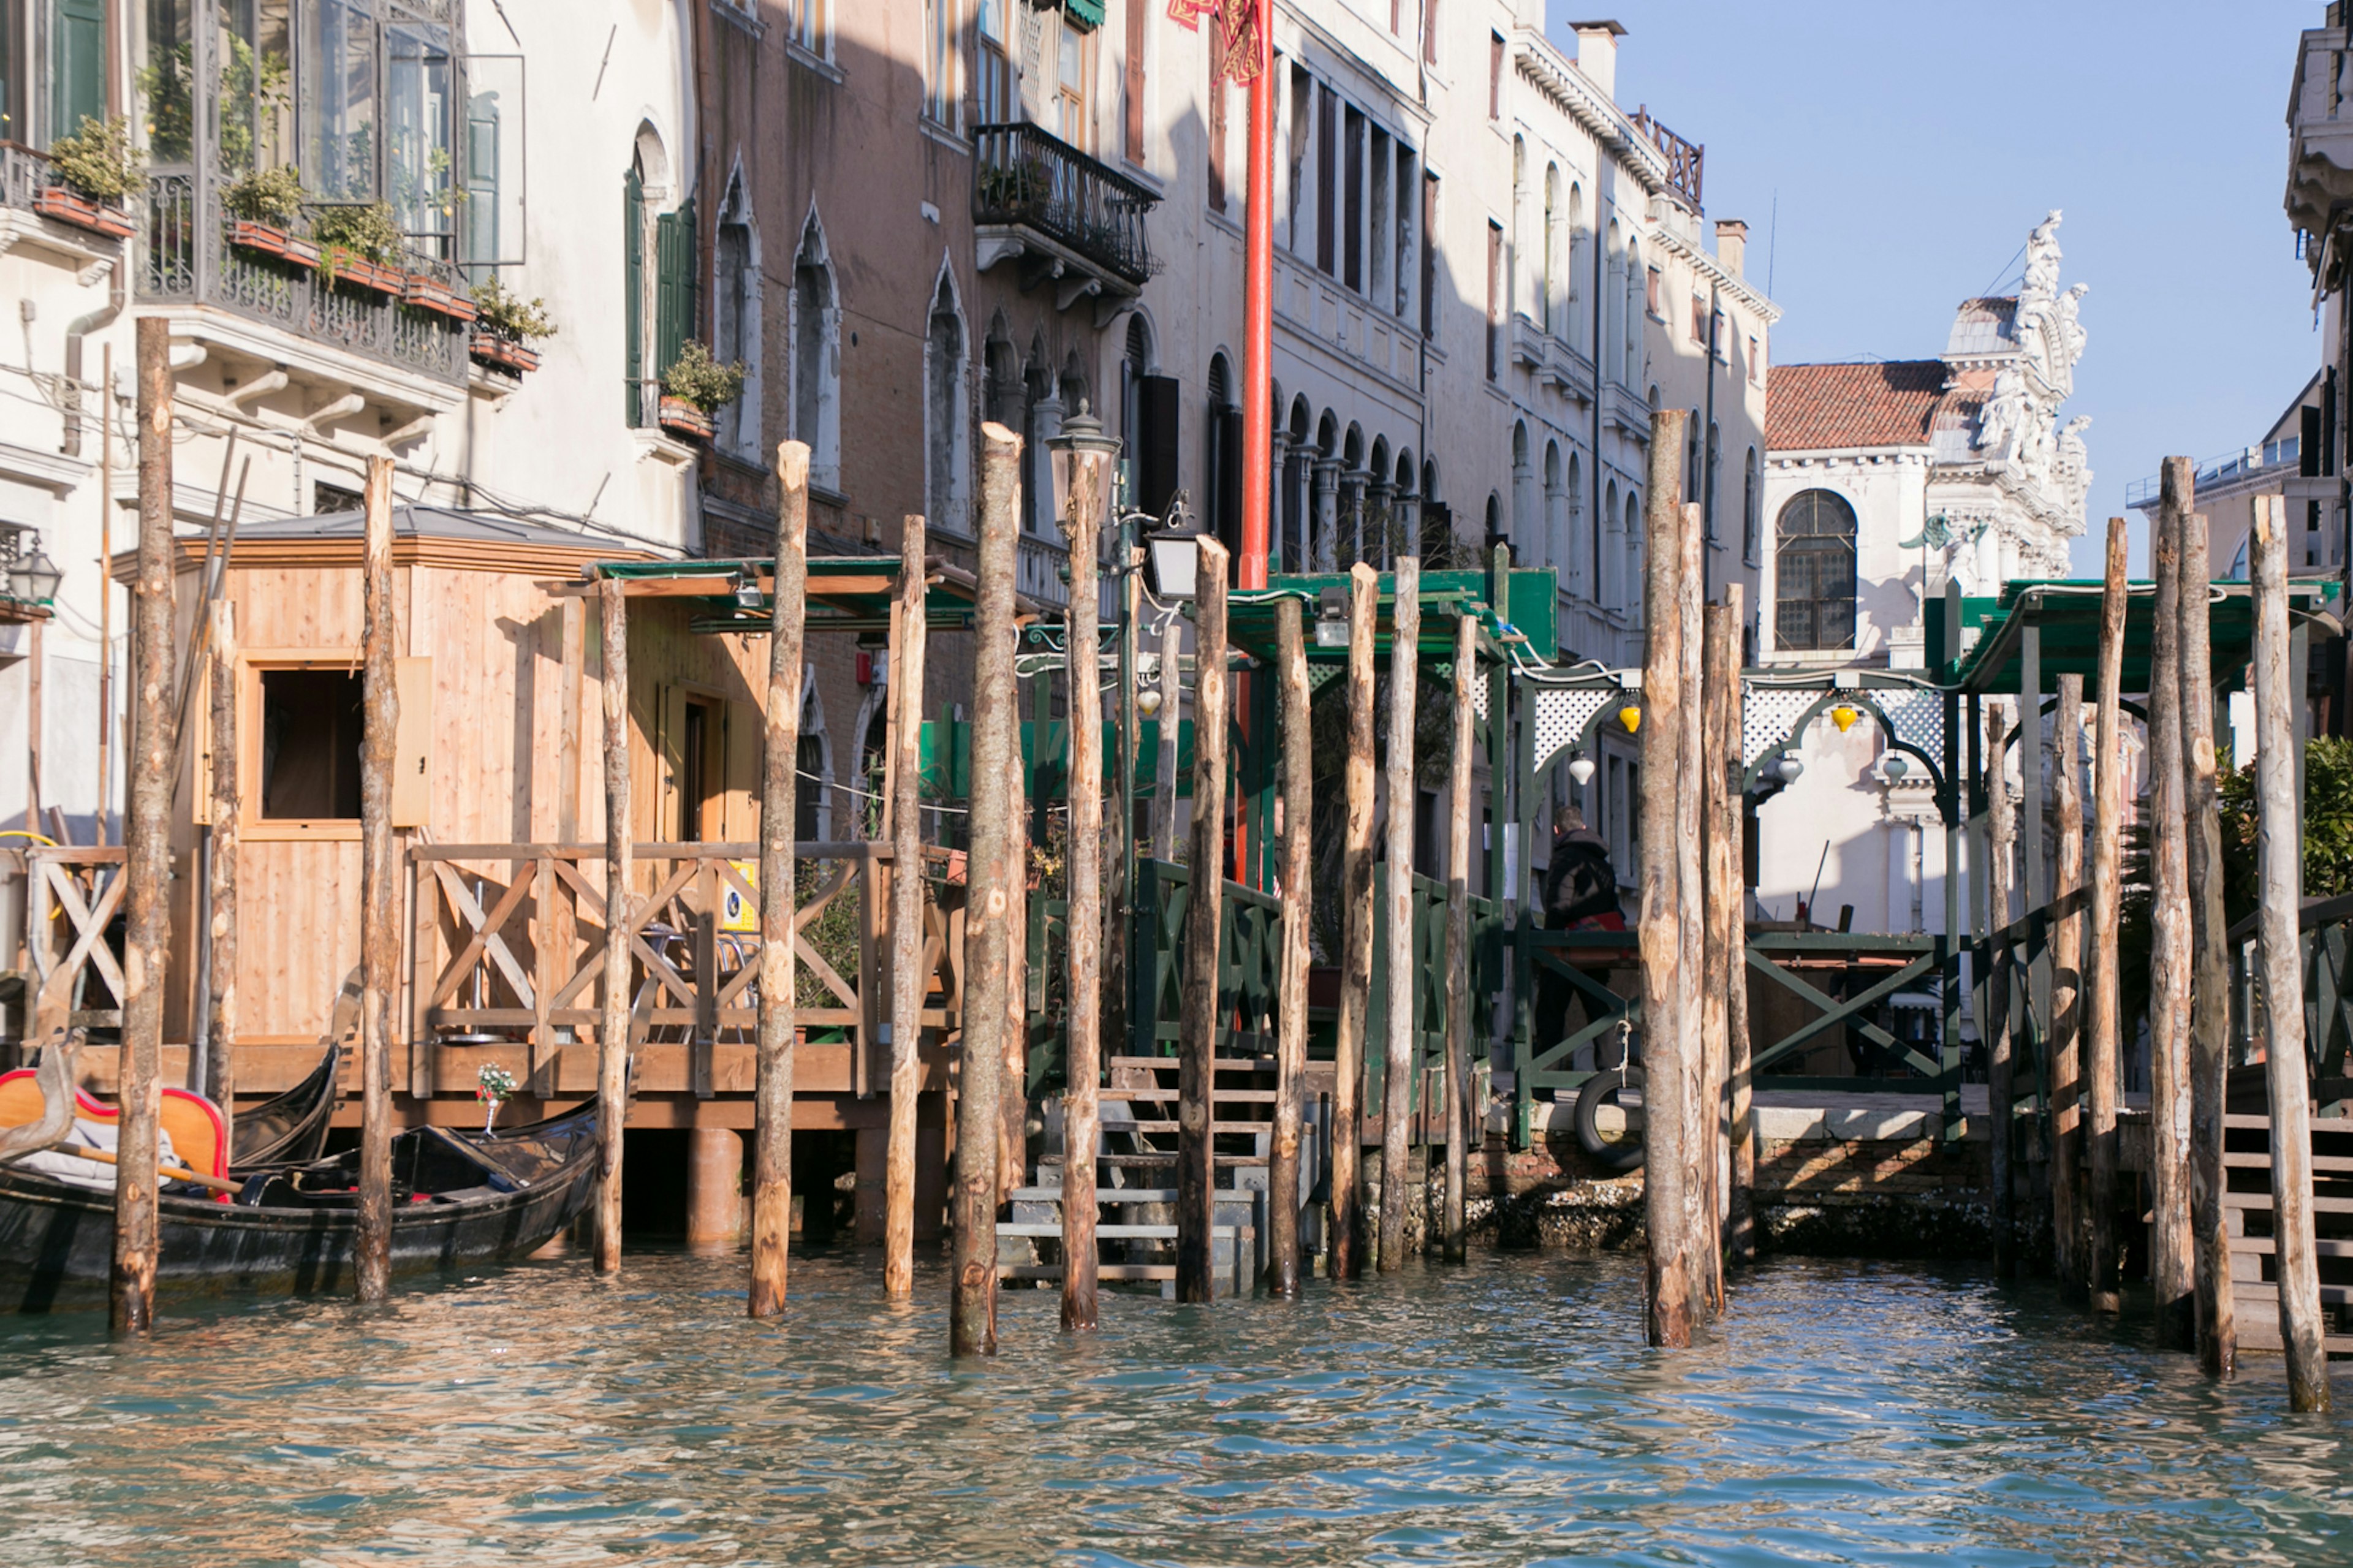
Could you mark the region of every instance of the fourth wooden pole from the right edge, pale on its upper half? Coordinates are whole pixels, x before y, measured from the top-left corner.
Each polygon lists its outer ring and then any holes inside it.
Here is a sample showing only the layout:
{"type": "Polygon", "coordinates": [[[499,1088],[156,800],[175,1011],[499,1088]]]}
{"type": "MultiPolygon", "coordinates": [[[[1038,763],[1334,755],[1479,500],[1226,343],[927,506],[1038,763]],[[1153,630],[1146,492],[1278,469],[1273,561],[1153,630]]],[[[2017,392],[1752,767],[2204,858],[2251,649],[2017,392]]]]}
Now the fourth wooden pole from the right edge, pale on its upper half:
{"type": "Polygon", "coordinates": [[[2125,862],[2125,520],[2108,518],[2108,572],[2099,600],[2099,732],[2092,749],[2092,1257],[2087,1278],[2094,1311],[2122,1311],[2115,1278],[2115,1090],[2120,1019],[2118,1008],[2118,913],[2125,862]]]}

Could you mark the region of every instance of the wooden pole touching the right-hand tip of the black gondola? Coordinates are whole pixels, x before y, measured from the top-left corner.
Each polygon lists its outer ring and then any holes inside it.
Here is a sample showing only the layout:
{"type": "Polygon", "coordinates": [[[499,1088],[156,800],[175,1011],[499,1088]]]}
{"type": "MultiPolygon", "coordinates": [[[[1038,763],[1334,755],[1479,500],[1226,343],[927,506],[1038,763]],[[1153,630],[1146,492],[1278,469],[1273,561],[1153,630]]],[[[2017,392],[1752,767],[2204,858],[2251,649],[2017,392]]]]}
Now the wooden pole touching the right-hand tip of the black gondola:
{"type": "Polygon", "coordinates": [[[598,579],[605,643],[605,1015],[595,1041],[595,1271],[621,1271],[621,1128],[628,1121],[628,935],[638,845],[628,819],[628,598],[598,579]]]}

